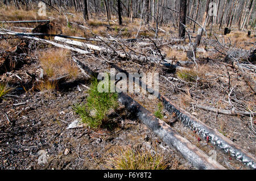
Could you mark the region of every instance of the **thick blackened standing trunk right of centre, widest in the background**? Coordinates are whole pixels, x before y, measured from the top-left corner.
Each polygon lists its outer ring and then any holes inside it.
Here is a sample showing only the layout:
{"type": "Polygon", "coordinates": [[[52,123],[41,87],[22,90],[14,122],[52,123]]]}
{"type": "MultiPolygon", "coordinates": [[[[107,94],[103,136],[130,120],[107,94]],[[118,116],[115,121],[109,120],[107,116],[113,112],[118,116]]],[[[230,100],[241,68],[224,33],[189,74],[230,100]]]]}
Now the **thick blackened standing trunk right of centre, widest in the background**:
{"type": "Polygon", "coordinates": [[[186,24],[186,12],[187,12],[187,0],[180,0],[180,22],[179,22],[179,37],[185,38],[185,27],[186,24]]]}

